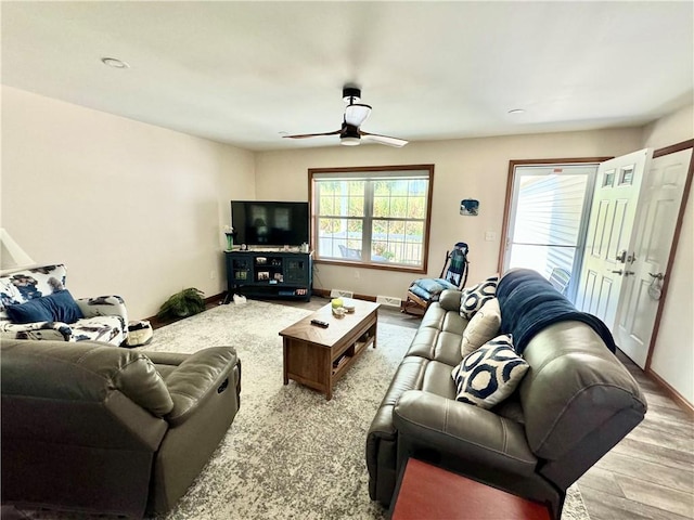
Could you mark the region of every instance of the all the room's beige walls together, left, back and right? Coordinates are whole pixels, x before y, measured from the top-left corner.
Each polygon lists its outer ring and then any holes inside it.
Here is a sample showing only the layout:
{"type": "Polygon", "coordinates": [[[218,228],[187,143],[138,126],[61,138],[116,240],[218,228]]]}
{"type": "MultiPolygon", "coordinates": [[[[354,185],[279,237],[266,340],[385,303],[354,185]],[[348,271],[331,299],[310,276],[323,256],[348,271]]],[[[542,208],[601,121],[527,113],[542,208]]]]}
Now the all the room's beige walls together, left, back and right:
{"type": "MultiPolygon", "coordinates": [[[[76,297],[119,294],[139,318],[181,288],[207,295],[226,288],[221,230],[230,199],[306,200],[308,168],[433,162],[429,274],[462,239],[474,283],[497,268],[509,160],[674,144],[694,135],[692,113],[687,107],[644,129],[254,154],[3,87],[0,224],[35,261],[65,262],[76,297]],[[459,214],[462,198],[480,200],[479,217],[459,214]],[[485,242],[487,231],[498,239],[485,242]]],[[[690,194],[653,358],[653,369],[690,402],[692,211],[690,194]]],[[[331,265],[316,274],[318,288],[401,298],[415,277],[331,265]]]]}

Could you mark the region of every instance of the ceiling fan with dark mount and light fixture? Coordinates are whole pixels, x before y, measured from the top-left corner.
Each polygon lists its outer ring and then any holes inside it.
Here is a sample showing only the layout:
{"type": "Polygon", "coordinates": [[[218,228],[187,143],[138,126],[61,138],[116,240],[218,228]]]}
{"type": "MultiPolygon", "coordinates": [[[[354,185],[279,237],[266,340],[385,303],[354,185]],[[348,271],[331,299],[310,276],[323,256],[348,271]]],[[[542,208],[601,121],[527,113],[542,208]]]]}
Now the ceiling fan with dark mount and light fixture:
{"type": "Polygon", "coordinates": [[[343,100],[347,103],[345,107],[345,116],[343,117],[343,126],[339,130],[323,133],[303,133],[299,135],[283,135],[287,139],[306,139],[318,138],[321,135],[339,135],[339,144],[346,146],[356,146],[364,141],[373,141],[378,144],[387,144],[388,146],[404,146],[408,142],[403,139],[391,138],[389,135],[380,135],[377,133],[369,133],[359,127],[367,120],[371,114],[371,106],[359,103],[361,101],[361,89],[356,87],[343,88],[343,100]]]}

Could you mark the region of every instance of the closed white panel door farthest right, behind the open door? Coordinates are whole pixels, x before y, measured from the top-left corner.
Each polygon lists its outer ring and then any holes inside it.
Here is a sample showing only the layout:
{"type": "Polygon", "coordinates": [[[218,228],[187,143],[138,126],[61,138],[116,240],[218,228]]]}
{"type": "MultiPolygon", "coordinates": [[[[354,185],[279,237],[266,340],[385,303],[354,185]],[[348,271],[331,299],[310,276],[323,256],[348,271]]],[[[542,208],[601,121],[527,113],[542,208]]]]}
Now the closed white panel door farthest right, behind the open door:
{"type": "Polygon", "coordinates": [[[634,248],[627,255],[624,296],[613,329],[619,349],[645,368],[658,300],[684,193],[692,148],[651,161],[641,187],[634,248]]]}

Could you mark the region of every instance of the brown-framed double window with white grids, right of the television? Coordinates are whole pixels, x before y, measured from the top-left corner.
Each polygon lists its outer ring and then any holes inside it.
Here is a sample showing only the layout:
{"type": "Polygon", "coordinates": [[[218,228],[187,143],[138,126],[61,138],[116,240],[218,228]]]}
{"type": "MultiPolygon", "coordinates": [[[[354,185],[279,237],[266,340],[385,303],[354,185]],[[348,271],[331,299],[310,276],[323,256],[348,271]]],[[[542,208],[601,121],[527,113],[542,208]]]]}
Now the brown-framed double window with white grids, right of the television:
{"type": "Polygon", "coordinates": [[[434,165],[310,169],[318,261],[426,271],[434,165]]]}

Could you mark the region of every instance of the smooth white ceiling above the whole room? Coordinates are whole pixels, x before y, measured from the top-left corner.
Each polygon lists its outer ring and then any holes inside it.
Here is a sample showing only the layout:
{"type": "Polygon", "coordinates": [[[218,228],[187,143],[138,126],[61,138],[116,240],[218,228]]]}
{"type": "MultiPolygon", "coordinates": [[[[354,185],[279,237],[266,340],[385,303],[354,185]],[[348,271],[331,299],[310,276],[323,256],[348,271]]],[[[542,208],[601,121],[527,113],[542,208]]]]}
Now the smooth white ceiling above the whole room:
{"type": "Polygon", "coordinates": [[[2,82],[249,150],[641,125],[693,102],[694,3],[2,2],[2,82]],[[101,63],[120,58],[128,69],[101,63]],[[524,108],[520,115],[509,110],[524,108]]]}

